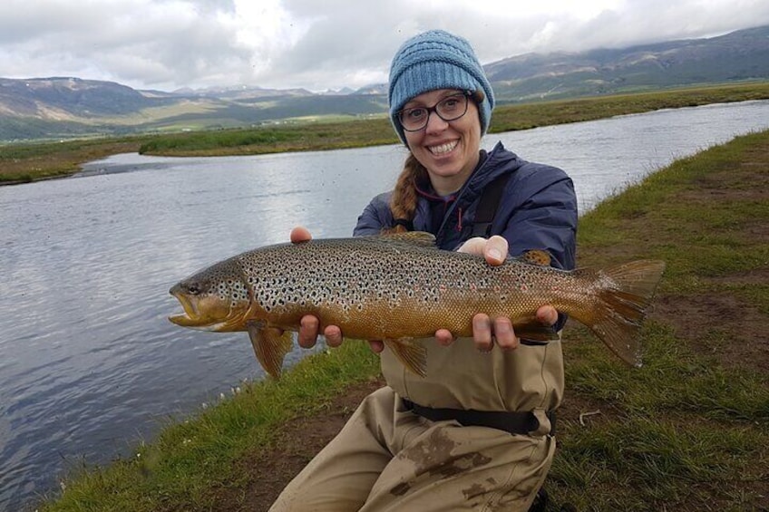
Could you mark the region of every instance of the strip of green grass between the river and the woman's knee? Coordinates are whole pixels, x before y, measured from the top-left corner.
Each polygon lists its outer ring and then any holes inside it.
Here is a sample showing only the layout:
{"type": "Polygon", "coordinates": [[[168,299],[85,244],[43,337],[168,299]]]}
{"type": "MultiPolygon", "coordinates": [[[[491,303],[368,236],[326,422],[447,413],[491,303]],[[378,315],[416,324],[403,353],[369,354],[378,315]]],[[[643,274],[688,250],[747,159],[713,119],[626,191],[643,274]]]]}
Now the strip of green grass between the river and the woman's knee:
{"type": "Polygon", "coordinates": [[[367,343],[299,362],[279,382],[244,386],[232,399],[164,429],[131,459],[104,469],[83,469],[66,484],[63,497],[40,510],[206,510],[211,489],[238,483],[233,462],[268,446],[277,426],[299,414],[323,411],[340,390],[379,374],[379,360],[367,343]]]}

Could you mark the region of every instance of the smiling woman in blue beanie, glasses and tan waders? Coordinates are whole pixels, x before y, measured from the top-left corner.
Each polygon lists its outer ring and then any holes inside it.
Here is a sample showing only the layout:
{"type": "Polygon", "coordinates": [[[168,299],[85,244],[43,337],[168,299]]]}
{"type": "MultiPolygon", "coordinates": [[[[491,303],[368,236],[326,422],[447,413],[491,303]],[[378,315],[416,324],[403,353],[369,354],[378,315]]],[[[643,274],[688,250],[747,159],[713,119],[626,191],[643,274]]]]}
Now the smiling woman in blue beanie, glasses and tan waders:
{"type": "MultiPolygon", "coordinates": [[[[356,236],[428,231],[441,248],[482,254],[492,265],[508,253],[544,249],[553,266],[573,268],[571,180],[501,143],[481,150],[494,98],[469,43],[443,31],[404,43],[390,70],[389,100],[410,154],[394,190],[359,217],[356,236]],[[499,187],[491,237],[472,237],[479,205],[490,197],[484,190],[499,187]]],[[[292,232],[295,242],[307,238],[307,230],[292,232]]],[[[564,322],[545,304],[537,316],[556,331],[564,322]]],[[[435,333],[437,343],[425,342],[425,378],[371,342],[388,385],[362,402],[271,510],[528,510],[555,450],[560,341],[521,341],[509,318],[479,313],[472,324],[474,343],[445,330],[435,333]]],[[[317,333],[317,319],[305,317],[299,343],[312,346],[317,333]]],[[[342,341],[336,326],[324,334],[332,346],[342,341]]]]}

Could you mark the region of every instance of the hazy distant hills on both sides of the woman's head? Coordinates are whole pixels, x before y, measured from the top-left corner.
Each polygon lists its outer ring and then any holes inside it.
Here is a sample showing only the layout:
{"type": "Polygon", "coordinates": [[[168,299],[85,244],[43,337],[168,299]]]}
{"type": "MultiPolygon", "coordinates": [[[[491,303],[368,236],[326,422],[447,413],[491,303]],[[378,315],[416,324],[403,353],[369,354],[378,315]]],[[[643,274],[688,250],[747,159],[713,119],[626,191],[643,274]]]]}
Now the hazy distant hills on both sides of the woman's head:
{"type": "MultiPolygon", "coordinates": [[[[769,26],[624,49],[528,53],[484,69],[501,103],[769,80],[769,26]]],[[[383,115],[386,92],[386,83],[319,93],[251,86],[161,92],[72,77],[0,78],[0,140],[383,115]]]]}

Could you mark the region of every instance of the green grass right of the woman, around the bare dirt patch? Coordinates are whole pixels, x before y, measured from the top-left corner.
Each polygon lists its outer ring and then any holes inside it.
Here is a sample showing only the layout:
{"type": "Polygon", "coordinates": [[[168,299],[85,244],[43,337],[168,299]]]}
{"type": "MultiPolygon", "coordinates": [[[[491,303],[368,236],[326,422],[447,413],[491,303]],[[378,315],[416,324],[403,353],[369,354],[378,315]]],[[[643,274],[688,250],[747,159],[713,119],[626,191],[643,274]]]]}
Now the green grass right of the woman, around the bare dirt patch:
{"type": "MultiPolygon", "coordinates": [[[[678,160],[581,219],[580,260],[665,259],[664,295],[728,294],[740,304],[737,314],[755,308],[765,325],[765,276],[729,280],[769,264],[766,237],[751,230],[769,225],[765,196],[714,199],[727,188],[767,183],[769,131],[678,160]],[[757,165],[742,165],[756,159],[757,165]]],[[[765,337],[746,339],[739,319],[723,320],[720,327],[686,333],[711,354],[693,350],[671,325],[648,322],[640,370],[615,364],[586,329],[569,331],[576,343],[565,347],[567,401],[586,401],[608,418],[561,425],[548,484],[556,501],[579,510],[754,510],[769,504],[769,376],[749,361],[725,366],[717,357],[730,344],[765,343],[765,337]]],[[[696,319],[687,324],[698,327],[696,319]]]]}

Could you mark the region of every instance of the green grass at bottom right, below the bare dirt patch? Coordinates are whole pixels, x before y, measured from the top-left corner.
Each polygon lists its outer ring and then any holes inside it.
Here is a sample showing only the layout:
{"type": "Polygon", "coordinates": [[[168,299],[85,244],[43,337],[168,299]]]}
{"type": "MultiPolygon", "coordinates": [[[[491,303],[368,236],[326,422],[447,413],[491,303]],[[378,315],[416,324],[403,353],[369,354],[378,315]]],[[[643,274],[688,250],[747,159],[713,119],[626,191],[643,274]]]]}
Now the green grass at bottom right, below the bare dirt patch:
{"type": "MultiPolygon", "coordinates": [[[[547,488],[579,510],[753,510],[766,503],[769,379],[692,353],[647,326],[647,364],[622,369],[583,333],[567,353],[569,396],[602,415],[559,425],[547,488]],[[582,348],[582,347],[580,347],[582,348]],[[575,353],[576,352],[576,353],[575,353]],[[575,357],[577,356],[577,357],[575,357]]],[[[603,351],[605,352],[605,351],[603,351]]]]}

